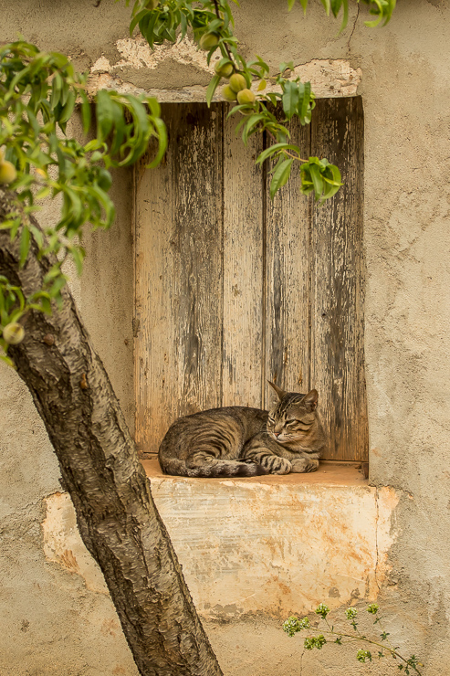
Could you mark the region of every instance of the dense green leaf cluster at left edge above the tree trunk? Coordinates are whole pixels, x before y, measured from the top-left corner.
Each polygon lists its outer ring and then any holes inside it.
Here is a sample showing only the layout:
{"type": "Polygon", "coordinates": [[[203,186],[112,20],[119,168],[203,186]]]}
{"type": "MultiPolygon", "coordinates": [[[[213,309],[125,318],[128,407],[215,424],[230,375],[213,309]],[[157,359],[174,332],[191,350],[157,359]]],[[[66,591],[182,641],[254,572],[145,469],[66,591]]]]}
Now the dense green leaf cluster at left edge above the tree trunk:
{"type": "MultiPolygon", "coordinates": [[[[31,309],[51,312],[61,302],[67,278],[64,262],[74,261],[81,273],[83,227],[108,228],[115,209],[108,192],[110,169],[129,166],[147,151],[154,137],[158,149],[150,166],[165,152],[167,136],[155,99],[100,90],[94,100],[95,117],[86,91],[87,76],[77,73],[68,58],[40,52],[24,41],[0,49],[0,187],[10,204],[0,229],[20,238],[20,265],[26,265],[32,241],[37,258],[53,255],[44,287],[33,298],[5,278],[0,279],[0,346],[24,336],[23,322],[31,309]],[[79,109],[87,143],[66,135],[69,119],[79,109]],[[60,196],[58,222],[41,230],[31,214],[41,200],[60,196]]],[[[7,357],[2,355],[5,361],[7,357]]]]}

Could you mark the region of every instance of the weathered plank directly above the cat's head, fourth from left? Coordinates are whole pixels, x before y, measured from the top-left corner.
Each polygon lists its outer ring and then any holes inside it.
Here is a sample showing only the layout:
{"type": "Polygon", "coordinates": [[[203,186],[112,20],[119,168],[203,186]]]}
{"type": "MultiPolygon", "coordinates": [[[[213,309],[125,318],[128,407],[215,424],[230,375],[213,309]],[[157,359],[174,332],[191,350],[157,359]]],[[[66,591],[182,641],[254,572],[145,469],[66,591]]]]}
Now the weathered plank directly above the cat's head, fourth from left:
{"type": "MultiPolygon", "coordinates": [[[[292,120],[292,143],[309,155],[309,128],[292,120]]],[[[290,392],[309,388],[309,201],[299,193],[298,164],[270,199],[266,190],[265,406],[274,400],[266,378],[290,392]],[[269,397],[267,396],[269,395],[269,397]]]]}

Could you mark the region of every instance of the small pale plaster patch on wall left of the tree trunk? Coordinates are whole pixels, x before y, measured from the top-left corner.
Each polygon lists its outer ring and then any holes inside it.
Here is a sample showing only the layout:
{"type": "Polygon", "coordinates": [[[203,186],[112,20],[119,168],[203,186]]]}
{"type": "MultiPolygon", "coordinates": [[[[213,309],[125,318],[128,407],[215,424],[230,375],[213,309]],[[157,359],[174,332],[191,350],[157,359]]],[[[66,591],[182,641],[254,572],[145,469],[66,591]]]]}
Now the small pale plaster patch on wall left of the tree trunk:
{"type": "Polygon", "coordinates": [[[42,530],[47,560],[83,577],[91,591],[108,594],[99,566],[78,533],[75,510],[68,493],[54,493],[45,498],[45,502],[47,516],[42,523],[42,530]]]}

